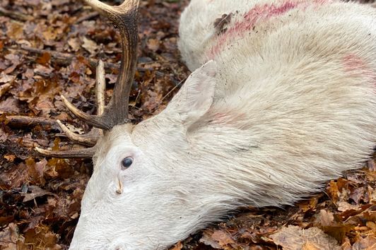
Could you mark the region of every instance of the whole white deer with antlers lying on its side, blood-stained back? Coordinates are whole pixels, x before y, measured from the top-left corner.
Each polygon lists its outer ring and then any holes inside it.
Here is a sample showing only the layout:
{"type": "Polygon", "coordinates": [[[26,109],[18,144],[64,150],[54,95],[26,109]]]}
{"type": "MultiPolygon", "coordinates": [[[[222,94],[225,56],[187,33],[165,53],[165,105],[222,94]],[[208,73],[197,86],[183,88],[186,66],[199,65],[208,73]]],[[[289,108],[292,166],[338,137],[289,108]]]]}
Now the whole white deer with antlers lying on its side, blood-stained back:
{"type": "MultiPolygon", "coordinates": [[[[331,0],[192,0],[180,50],[194,71],[163,112],[133,125],[138,0],[86,0],[119,27],[124,55],[98,116],[70,249],[165,249],[239,206],[285,206],[356,169],[376,144],[376,11],[331,0]],[[201,66],[203,65],[204,66],[201,66]]],[[[61,124],[61,123],[60,123],[61,124]]],[[[66,130],[67,135],[86,144],[66,130]]]]}

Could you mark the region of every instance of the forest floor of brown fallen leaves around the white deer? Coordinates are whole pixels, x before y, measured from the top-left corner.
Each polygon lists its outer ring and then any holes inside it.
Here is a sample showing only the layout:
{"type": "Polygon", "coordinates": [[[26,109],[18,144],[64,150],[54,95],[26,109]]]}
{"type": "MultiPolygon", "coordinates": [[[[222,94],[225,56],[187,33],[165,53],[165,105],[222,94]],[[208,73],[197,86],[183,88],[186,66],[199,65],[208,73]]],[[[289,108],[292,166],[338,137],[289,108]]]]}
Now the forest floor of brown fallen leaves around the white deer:
{"type": "MultiPolygon", "coordinates": [[[[177,50],[188,2],[141,1],[130,101],[136,121],[163,110],[189,76],[177,50]]],[[[76,133],[90,130],[60,95],[94,114],[98,59],[109,97],[120,56],[117,30],[80,1],[1,1],[0,249],[68,248],[92,162],[41,157],[33,148],[72,147],[56,119],[76,133]]],[[[376,249],[375,157],[295,206],[242,208],[172,249],[376,249]]]]}

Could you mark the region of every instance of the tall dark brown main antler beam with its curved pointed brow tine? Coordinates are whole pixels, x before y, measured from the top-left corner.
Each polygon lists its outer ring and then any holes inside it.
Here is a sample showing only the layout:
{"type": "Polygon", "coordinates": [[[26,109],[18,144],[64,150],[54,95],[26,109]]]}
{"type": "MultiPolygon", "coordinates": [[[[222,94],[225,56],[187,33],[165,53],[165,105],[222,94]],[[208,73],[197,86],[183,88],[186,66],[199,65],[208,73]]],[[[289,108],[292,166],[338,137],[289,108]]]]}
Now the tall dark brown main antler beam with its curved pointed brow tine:
{"type": "Polygon", "coordinates": [[[123,51],[119,76],[117,77],[117,83],[114,87],[112,98],[107,107],[105,107],[103,114],[100,116],[86,114],[74,107],[74,105],[64,97],[61,98],[66,107],[78,118],[100,129],[109,130],[117,124],[129,122],[129,92],[133,83],[134,72],[136,71],[136,47],[138,42],[136,16],[139,0],[126,0],[120,6],[109,6],[98,0],[84,1],[104,16],[107,16],[107,18],[110,18],[114,25],[117,25],[119,28],[123,51]]]}

